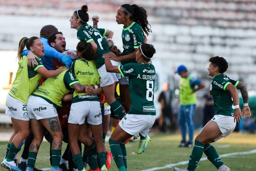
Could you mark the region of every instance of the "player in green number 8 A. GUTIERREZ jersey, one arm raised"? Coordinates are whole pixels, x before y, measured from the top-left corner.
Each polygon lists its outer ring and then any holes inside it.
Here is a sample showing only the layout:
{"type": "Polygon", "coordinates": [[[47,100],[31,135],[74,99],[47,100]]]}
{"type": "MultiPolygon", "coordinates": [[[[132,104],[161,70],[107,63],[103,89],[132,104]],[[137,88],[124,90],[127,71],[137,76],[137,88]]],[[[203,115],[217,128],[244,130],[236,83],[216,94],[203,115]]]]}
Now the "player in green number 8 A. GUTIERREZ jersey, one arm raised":
{"type": "Polygon", "coordinates": [[[141,154],[147,148],[150,137],[147,135],[155,122],[154,85],[155,67],[149,60],[155,54],[153,45],[143,43],[136,51],[138,64],[124,64],[113,66],[108,55],[108,44],[102,39],[105,52],[105,65],[108,72],[121,73],[129,76],[129,91],[131,108],[123,117],[109,139],[111,153],[119,171],[127,170],[127,154],[125,140],[139,134],[141,140],[137,154],[141,154]]]}

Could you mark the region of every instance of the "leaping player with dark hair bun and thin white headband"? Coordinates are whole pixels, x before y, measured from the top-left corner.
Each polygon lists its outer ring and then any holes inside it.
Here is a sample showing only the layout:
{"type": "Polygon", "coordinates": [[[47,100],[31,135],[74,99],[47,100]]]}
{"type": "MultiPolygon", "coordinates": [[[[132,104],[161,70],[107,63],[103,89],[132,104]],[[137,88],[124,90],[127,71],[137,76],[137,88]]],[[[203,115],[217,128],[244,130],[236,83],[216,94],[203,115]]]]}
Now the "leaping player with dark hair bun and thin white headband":
{"type": "MultiPolygon", "coordinates": [[[[95,64],[100,76],[100,87],[102,87],[105,94],[106,101],[115,111],[116,115],[122,118],[125,115],[122,105],[115,99],[114,89],[115,82],[118,81],[120,74],[108,73],[105,67],[103,47],[101,44],[102,36],[112,38],[113,32],[106,29],[95,28],[87,24],[89,15],[87,13],[88,8],[83,5],[81,10],[77,10],[73,13],[70,19],[71,28],[77,30],[77,38],[89,42],[92,45],[95,54],[95,64]]],[[[116,63],[112,61],[113,64],[116,63]]],[[[118,65],[118,64],[116,64],[118,65]]]]}

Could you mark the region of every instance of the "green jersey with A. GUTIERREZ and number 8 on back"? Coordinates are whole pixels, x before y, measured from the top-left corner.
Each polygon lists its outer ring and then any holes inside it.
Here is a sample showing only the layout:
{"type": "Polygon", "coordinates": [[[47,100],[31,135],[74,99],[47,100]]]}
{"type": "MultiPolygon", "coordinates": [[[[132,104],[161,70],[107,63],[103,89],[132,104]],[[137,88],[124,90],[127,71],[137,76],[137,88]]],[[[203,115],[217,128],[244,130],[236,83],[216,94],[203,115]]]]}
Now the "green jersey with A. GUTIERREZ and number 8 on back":
{"type": "Polygon", "coordinates": [[[120,65],[122,76],[129,76],[131,107],[129,114],[156,115],[154,104],[155,67],[153,64],[120,65]]]}

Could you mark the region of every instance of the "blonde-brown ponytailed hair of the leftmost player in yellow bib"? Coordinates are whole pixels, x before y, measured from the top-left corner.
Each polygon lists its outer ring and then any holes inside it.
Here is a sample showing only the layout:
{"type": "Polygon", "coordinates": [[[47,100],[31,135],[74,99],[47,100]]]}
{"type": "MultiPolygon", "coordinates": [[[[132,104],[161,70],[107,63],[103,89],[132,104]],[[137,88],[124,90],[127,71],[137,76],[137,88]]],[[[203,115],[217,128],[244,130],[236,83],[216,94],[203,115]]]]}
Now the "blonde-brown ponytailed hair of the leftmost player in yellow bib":
{"type": "Polygon", "coordinates": [[[30,47],[33,46],[33,43],[36,39],[39,39],[39,38],[36,36],[33,36],[30,38],[23,37],[20,39],[19,48],[18,48],[18,52],[17,52],[18,60],[20,60],[20,58],[22,57],[22,52],[23,52],[25,46],[28,50],[30,50],[30,47]]]}

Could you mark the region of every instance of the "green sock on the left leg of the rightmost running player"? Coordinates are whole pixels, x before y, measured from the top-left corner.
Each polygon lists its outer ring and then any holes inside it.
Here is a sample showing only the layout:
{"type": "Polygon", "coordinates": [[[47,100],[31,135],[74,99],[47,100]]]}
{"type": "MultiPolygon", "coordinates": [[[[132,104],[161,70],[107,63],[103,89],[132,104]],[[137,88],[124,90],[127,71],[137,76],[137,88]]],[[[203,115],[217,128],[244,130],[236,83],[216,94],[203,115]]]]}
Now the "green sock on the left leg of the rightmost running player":
{"type": "Polygon", "coordinates": [[[192,150],[192,154],[189,157],[189,166],[187,168],[189,171],[195,170],[195,168],[199,163],[199,160],[203,155],[203,152],[204,152],[204,144],[201,143],[200,141],[195,140],[195,145],[192,150]]]}

